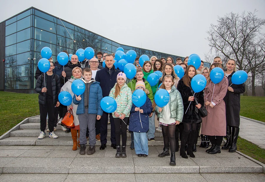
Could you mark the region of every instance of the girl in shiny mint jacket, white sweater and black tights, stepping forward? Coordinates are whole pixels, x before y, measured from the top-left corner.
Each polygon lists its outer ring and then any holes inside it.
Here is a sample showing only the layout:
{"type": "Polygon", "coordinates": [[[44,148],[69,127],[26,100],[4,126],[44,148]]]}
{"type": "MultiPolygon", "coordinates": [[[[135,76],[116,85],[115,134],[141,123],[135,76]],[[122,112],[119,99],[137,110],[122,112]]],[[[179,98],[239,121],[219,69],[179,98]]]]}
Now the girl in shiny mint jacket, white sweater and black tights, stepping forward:
{"type": "MultiPolygon", "coordinates": [[[[161,89],[165,89],[169,93],[169,102],[163,107],[159,107],[160,101],[155,96],[155,102],[153,107],[158,113],[160,124],[162,125],[163,139],[164,139],[164,151],[158,155],[158,157],[169,156],[169,146],[171,151],[170,165],[176,165],[175,162],[175,128],[183,118],[183,101],[180,92],[174,86],[174,79],[170,75],[164,76],[161,89]]],[[[159,90],[160,91],[160,90],[159,90]]]]}

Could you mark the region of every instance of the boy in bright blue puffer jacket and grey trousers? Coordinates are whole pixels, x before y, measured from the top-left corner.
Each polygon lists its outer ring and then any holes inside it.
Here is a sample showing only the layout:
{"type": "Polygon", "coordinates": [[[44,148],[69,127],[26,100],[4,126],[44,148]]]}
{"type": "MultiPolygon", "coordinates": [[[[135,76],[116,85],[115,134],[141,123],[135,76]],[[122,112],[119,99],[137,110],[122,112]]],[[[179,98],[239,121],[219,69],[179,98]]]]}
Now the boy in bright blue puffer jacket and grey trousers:
{"type": "Polygon", "coordinates": [[[89,68],[83,69],[83,78],[85,82],[85,92],[80,96],[73,96],[73,103],[78,105],[76,114],[78,115],[80,125],[80,155],[85,155],[86,150],[86,131],[89,130],[89,148],[87,149],[87,155],[92,155],[96,152],[96,119],[100,120],[102,116],[102,109],[100,107],[100,101],[102,97],[102,90],[100,83],[91,80],[92,71],[89,68]]]}

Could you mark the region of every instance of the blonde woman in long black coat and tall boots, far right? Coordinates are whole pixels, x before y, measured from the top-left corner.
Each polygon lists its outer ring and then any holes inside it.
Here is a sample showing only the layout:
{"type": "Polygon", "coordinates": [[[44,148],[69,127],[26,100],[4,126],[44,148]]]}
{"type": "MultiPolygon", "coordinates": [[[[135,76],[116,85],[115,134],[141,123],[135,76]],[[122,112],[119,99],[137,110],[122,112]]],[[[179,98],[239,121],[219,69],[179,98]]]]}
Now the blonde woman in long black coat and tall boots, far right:
{"type": "Polygon", "coordinates": [[[240,94],[245,92],[245,84],[232,84],[231,78],[236,70],[236,61],[234,59],[228,59],[226,68],[225,75],[228,78],[229,87],[225,98],[223,98],[226,103],[226,144],[222,149],[229,149],[229,152],[235,152],[240,125],[240,94]]]}

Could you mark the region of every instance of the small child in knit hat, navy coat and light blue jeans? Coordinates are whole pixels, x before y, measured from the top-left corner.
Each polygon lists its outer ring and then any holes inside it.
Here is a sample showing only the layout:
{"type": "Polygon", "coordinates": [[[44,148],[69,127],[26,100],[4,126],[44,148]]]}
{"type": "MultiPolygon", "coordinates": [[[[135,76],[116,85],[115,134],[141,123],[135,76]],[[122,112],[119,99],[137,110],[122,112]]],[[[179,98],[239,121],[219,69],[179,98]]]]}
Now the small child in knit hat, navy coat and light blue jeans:
{"type": "MultiPolygon", "coordinates": [[[[149,93],[149,91],[145,89],[145,83],[143,81],[136,82],[135,89],[142,89],[146,94],[149,93]]],[[[146,137],[146,132],[149,129],[149,114],[152,112],[152,109],[152,102],[148,96],[146,96],[145,104],[140,108],[132,104],[129,130],[133,131],[135,154],[137,154],[138,157],[148,156],[148,139],[146,137]]]]}

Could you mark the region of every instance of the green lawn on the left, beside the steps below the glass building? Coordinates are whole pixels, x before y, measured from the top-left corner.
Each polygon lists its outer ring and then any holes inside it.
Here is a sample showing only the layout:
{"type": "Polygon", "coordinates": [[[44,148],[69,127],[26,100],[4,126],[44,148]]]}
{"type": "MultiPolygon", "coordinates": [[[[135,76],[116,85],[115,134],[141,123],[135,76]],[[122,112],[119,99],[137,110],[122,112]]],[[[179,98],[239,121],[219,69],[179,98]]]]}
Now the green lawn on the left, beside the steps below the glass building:
{"type": "Polygon", "coordinates": [[[39,115],[38,94],[0,91],[0,136],[27,117],[39,115]]]}

